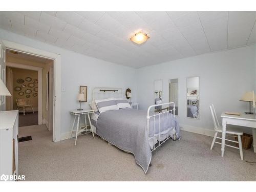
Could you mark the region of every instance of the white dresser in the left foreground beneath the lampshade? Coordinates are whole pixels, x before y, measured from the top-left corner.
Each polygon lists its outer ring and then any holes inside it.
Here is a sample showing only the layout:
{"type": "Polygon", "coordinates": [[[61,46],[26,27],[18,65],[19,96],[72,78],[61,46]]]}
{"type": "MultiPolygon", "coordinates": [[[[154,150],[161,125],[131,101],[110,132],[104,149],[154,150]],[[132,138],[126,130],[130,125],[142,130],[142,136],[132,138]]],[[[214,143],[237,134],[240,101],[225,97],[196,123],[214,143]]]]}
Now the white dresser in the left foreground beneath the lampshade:
{"type": "MultiPolygon", "coordinates": [[[[0,111],[0,176],[18,175],[18,111],[0,111]]],[[[3,180],[3,178],[1,178],[3,180]]]]}

